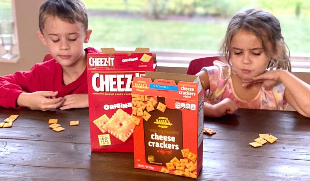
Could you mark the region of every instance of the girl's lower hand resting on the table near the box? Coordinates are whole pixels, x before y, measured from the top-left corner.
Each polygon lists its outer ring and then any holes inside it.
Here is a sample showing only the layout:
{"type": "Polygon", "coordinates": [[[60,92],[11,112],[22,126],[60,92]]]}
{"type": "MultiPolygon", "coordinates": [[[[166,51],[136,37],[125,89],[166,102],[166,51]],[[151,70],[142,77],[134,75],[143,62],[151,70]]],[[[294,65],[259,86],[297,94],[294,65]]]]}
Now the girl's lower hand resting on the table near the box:
{"type": "Polygon", "coordinates": [[[233,114],[239,106],[229,98],[223,99],[221,102],[211,105],[210,109],[206,109],[206,116],[221,117],[226,114],[233,114]],[[210,112],[208,112],[210,111],[210,112]]]}

